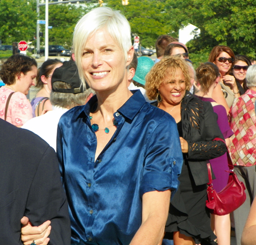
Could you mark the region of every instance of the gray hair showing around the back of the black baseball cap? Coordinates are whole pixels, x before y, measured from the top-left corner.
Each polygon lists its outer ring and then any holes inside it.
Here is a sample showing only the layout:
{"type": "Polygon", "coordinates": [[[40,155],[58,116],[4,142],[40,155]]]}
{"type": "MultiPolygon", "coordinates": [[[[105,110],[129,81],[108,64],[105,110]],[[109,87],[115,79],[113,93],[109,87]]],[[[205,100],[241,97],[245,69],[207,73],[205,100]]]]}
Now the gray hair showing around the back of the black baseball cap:
{"type": "MultiPolygon", "coordinates": [[[[65,82],[55,82],[53,83],[52,87],[71,88],[71,85],[65,82]]],[[[84,92],[80,92],[79,94],[51,91],[50,102],[52,105],[56,105],[59,107],[73,108],[77,105],[84,105],[85,100],[90,95],[90,93],[95,94],[92,88],[88,88],[87,90],[85,90],[84,92]]]]}

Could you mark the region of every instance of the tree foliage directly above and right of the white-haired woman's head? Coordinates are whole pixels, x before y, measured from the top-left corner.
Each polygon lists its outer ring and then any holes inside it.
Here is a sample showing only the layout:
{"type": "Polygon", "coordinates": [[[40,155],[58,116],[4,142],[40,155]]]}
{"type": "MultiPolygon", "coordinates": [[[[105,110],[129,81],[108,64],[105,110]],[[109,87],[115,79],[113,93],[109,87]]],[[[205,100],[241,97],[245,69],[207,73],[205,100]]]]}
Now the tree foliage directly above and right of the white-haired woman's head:
{"type": "Polygon", "coordinates": [[[170,32],[164,1],[130,0],[127,6],[121,3],[121,0],[108,0],[108,7],[120,10],[126,16],[131,32],[140,37],[142,46],[154,47],[159,35],[170,32]]]}

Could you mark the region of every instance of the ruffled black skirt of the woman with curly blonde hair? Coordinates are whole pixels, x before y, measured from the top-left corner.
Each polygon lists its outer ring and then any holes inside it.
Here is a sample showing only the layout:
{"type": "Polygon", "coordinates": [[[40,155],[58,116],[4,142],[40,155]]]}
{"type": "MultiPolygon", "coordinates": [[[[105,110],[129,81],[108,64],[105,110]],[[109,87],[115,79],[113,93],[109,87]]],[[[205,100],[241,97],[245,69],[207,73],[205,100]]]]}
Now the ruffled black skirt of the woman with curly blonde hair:
{"type": "Polygon", "coordinates": [[[180,185],[171,201],[165,239],[173,239],[174,231],[191,236],[196,244],[216,244],[210,228],[210,213],[205,206],[207,184],[195,185],[186,161],[179,177],[180,185]]]}

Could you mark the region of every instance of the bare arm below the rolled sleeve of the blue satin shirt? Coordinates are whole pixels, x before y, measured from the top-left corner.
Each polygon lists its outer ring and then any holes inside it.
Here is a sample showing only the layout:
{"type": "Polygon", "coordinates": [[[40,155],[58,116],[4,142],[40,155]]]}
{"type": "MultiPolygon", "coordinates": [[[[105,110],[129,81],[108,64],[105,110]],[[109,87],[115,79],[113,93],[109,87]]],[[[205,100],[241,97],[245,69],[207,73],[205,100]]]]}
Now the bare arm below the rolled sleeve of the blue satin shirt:
{"type": "Polygon", "coordinates": [[[152,191],[142,196],[142,225],[130,245],[158,245],[164,235],[171,191],[152,191]]]}

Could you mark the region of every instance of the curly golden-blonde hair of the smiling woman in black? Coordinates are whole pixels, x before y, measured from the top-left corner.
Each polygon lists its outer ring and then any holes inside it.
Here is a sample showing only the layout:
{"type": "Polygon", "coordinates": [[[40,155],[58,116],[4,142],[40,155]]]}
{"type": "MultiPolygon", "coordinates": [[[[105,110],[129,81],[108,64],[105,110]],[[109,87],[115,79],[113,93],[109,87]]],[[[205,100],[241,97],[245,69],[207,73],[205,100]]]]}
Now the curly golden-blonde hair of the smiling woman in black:
{"type": "Polygon", "coordinates": [[[163,84],[166,75],[175,77],[176,70],[180,68],[185,77],[186,90],[189,90],[190,74],[189,66],[186,61],[177,56],[165,56],[156,63],[146,76],[146,93],[150,100],[155,100],[160,86],[163,84]]]}

